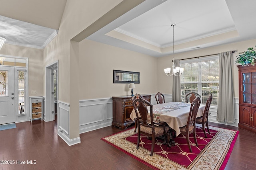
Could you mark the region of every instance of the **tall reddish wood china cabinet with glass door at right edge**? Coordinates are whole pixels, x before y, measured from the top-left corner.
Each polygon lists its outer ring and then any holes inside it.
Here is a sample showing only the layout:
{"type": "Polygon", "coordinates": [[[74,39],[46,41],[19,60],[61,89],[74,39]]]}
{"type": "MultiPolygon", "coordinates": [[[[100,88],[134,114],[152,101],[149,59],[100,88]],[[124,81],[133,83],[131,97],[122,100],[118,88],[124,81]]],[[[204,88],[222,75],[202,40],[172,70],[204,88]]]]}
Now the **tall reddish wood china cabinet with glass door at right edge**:
{"type": "Polygon", "coordinates": [[[238,66],[239,123],[241,129],[256,133],[256,66],[238,66]]]}

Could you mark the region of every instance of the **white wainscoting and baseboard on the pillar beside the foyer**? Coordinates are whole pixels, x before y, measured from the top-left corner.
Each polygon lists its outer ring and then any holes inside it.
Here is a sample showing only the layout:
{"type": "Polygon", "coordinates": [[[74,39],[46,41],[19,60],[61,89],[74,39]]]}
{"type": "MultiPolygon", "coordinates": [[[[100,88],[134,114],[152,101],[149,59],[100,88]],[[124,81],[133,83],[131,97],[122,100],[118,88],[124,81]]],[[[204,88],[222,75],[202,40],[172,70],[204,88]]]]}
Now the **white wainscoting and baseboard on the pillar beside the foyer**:
{"type": "Polygon", "coordinates": [[[70,105],[58,101],[58,135],[68,144],[68,146],[81,143],[80,137],[70,139],[70,105]]]}

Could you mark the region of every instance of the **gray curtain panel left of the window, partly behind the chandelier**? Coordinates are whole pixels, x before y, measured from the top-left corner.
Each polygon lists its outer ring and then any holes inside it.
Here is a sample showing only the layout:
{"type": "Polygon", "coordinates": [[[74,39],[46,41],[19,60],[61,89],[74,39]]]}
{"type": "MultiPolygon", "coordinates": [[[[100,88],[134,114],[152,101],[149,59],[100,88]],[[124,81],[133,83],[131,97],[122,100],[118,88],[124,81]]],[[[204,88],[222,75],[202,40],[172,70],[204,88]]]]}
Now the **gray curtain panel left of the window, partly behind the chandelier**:
{"type": "MultiPolygon", "coordinates": [[[[174,60],[175,67],[180,66],[180,60],[174,60]]],[[[181,102],[180,76],[172,76],[172,102],[181,102]]]]}

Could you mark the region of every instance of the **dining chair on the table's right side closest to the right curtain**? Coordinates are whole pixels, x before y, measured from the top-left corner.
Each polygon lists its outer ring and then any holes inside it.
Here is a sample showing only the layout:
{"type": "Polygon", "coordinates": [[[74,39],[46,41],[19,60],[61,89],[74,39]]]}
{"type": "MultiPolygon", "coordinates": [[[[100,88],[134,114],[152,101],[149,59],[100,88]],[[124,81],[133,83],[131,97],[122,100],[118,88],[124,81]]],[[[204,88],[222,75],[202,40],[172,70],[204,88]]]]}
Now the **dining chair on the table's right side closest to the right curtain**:
{"type": "Polygon", "coordinates": [[[208,133],[210,133],[209,126],[208,126],[208,115],[209,115],[209,109],[210,109],[211,103],[212,103],[212,94],[209,96],[209,98],[206,101],[206,105],[205,105],[205,108],[204,108],[203,115],[201,117],[196,118],[196,123],[202,124],[205,137],[207,137],[206,130],[205,130],[205,125],[207,127],[208,133]]]}

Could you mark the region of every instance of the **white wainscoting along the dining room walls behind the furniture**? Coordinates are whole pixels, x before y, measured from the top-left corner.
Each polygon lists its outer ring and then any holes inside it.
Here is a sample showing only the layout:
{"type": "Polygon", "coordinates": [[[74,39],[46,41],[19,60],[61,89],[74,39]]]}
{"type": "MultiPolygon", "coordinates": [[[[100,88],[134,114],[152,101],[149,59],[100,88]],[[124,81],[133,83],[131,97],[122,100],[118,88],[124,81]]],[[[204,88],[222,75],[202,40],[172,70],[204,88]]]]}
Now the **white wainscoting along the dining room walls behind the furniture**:
{"type": "MultiPolygon", "coordinates": [[[[172,94],[164,94],[166,102],[172,102],[172,94]]],[[[226,125],[238,126],[239,122],[239,105],[238,98],[234,99],[235,102],[235,123],[223,123],[216,120],[217,107],[210,107],[209,121],[215,123],[221,123],[226,125]]],[[[112,125],[112,98],[92,99],[92,100],[80,100],[80,133],[93,131],[102,127],[112,125]]],[[[156,104],[155,94],[151,94],[151,104],[156,104]]]]}

